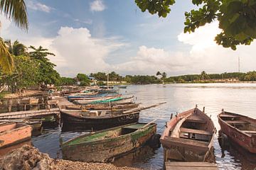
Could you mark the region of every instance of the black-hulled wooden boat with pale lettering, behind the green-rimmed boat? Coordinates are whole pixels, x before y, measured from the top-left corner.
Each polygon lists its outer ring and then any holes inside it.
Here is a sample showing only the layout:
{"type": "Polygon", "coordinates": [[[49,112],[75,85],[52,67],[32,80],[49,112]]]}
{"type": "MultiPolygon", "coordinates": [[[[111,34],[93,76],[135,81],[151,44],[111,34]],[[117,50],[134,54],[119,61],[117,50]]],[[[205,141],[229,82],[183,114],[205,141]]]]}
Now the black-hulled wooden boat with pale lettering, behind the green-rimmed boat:
{"type": "Polygon", "coordinates": [[[84,126],[88,129],[112,128],[117,125],[136,123],[139,120],[139,111],[133,113],[105,114],[88,113],[82,111],[60,110],[63,124],[84,126]]]}

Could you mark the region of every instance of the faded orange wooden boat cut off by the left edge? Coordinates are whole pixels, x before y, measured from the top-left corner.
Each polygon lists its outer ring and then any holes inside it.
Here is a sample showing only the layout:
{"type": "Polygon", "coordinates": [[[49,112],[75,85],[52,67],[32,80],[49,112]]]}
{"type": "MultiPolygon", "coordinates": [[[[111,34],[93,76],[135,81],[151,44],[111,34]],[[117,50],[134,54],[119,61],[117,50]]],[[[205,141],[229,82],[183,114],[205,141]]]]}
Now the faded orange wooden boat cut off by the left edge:
{"type": "Polygon", "coordinates": [[[31,139],[32,127],[23,123],[0,124],[0,148],[31,139]]]}

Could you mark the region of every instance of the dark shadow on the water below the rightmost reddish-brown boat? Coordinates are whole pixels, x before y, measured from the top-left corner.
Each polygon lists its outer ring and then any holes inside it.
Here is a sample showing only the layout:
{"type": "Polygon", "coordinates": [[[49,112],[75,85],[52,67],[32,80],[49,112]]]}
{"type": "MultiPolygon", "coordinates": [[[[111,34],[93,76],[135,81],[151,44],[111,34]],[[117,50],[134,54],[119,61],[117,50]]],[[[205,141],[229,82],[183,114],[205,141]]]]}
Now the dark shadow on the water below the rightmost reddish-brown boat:
{"type": "MultiPolygon", "coordinates": [[[[247,152],[247,150],[243,149],[240,145],[237,145],[233,140],[230,140],[230,138],[223,134],[221,130],[219,130],[218,133],[218,142],[221,148],[222,158],[225,158],[226,154],[229,154],[229,156],[233,157],[233,160],[230,160],[230,162],[237,163],[238,169],[256,169],[256,154],[247,152]]],[[[227,159],[229,158],[227,157],[227,159]]]]}

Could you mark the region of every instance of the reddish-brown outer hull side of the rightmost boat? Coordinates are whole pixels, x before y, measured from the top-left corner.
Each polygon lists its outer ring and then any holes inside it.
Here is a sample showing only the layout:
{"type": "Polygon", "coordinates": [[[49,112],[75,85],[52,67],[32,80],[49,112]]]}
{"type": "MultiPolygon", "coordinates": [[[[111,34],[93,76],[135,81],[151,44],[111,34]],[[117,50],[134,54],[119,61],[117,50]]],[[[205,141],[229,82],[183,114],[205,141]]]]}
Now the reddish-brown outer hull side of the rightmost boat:
{"type": "MultiPolygon", "coordinates": [[[[218,116],[218,123],[220,124],[221,132],[225,133],[225,135],[227,135],[230,140],[233,140],[233,142],[235,142],[237,145],[240,145],[248,152],[256,154],[256,135],[247,135],[241,132],[238,130],[238,128],[234,128],[228,123],[225,123],[225,121],[222,120],[220,116],[218,116]]],[[[256,120],[254,120],[254,123],[256,125],[256,120]]]]}

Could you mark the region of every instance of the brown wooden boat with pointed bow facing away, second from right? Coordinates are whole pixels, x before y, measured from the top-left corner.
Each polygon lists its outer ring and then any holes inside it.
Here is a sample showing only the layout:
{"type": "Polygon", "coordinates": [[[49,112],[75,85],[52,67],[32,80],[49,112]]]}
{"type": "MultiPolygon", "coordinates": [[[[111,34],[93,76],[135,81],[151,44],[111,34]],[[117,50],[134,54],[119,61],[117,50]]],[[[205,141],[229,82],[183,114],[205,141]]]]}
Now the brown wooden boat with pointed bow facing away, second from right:
{"type": "Polygon", "coordinates": [[[203,162],[213,146],[213,121],[197,107],[171,118],[160,142],[164,147],[164,162],[203,162]]]}

